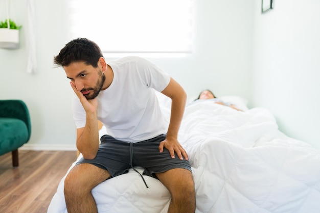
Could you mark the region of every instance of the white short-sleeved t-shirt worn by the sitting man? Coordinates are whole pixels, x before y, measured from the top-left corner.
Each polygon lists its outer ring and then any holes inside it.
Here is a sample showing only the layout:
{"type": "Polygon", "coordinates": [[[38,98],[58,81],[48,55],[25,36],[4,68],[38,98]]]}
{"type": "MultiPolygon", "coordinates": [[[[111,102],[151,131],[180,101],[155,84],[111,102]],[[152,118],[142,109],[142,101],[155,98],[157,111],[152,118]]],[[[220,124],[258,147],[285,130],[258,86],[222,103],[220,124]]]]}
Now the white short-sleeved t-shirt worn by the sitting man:
{"type": "MultiPolygon", "coordinates": [[[[125,57],[107,64],[113,70],[113,81],[97,98],[98,120],[105,125],[108,135],[139,142],[166,133],[155,93],[168,86],[170,76],[140,57],[125,57]]],[[[84,127],[86,114],[76,95],[72,110],[77,128],[84,127]]]]}

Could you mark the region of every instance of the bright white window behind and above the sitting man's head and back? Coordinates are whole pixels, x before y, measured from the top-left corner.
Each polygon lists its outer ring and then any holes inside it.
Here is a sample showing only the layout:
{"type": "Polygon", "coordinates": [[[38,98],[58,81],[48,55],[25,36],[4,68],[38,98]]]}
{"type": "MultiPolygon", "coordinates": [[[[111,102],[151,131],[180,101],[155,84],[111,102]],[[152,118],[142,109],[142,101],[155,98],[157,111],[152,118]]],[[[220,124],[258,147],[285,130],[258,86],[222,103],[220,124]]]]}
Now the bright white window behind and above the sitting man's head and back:
{"type": "Polygon", "coordinates": [[[69,0],[70,36],[106,54],[192,51],[192,0],[69,0]]]}

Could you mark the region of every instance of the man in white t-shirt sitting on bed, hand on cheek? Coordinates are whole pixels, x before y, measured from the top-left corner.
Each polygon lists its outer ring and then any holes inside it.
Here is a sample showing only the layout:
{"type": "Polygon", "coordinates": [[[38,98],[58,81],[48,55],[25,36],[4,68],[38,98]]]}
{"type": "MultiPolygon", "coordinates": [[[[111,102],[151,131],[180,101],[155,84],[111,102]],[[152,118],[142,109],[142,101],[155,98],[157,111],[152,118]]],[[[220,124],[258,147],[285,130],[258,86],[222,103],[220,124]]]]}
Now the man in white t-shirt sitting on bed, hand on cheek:
{"type": "Polygon", "coordinates": [[[99,46],[85,38],[67,43],[54,63],[63,67],[76,94],[73,117],[77,148],[83,155],[64,181],[67,211],[97,212],[91,190],[141,166],[171,193],[168,212],[195,212],[188,154],[177,141],[184,89],[145,59],[125,57],[106,63],[99,46]],[[155,90],[172,99],[168,129],[155,90]],[[109,134],[101,137],[100,145],[98,120],[109,134]]]}

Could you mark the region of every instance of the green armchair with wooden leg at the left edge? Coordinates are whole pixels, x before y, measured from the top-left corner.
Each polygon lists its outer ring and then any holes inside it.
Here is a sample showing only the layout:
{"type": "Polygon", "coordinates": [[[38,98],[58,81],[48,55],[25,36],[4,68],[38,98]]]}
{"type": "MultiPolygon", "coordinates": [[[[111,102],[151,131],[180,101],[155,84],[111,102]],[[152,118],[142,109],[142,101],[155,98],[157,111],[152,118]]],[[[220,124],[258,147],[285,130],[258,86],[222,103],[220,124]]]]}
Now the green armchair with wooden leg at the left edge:
{"type": "Polygon", "coordinates": [[[12,166],[19,166],[18,148],[27,143],[31,122],[22,100],[0,100],[0,155],[12,152],[12,166]]]}

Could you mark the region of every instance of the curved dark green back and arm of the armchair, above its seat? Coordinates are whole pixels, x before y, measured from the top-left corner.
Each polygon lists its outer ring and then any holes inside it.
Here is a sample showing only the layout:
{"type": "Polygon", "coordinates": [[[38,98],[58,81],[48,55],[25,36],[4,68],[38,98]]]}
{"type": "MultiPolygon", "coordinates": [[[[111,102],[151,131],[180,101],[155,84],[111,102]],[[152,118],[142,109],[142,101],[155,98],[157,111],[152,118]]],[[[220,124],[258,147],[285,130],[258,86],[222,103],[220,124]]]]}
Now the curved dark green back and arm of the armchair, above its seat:
{"type": "Polygon", "coordinates": [[[0,117],[17,118],[24,121],[28,128],[28,140],[31,135],[31,121],[27,105],[22,100],[0,100],[0,117]]]}

